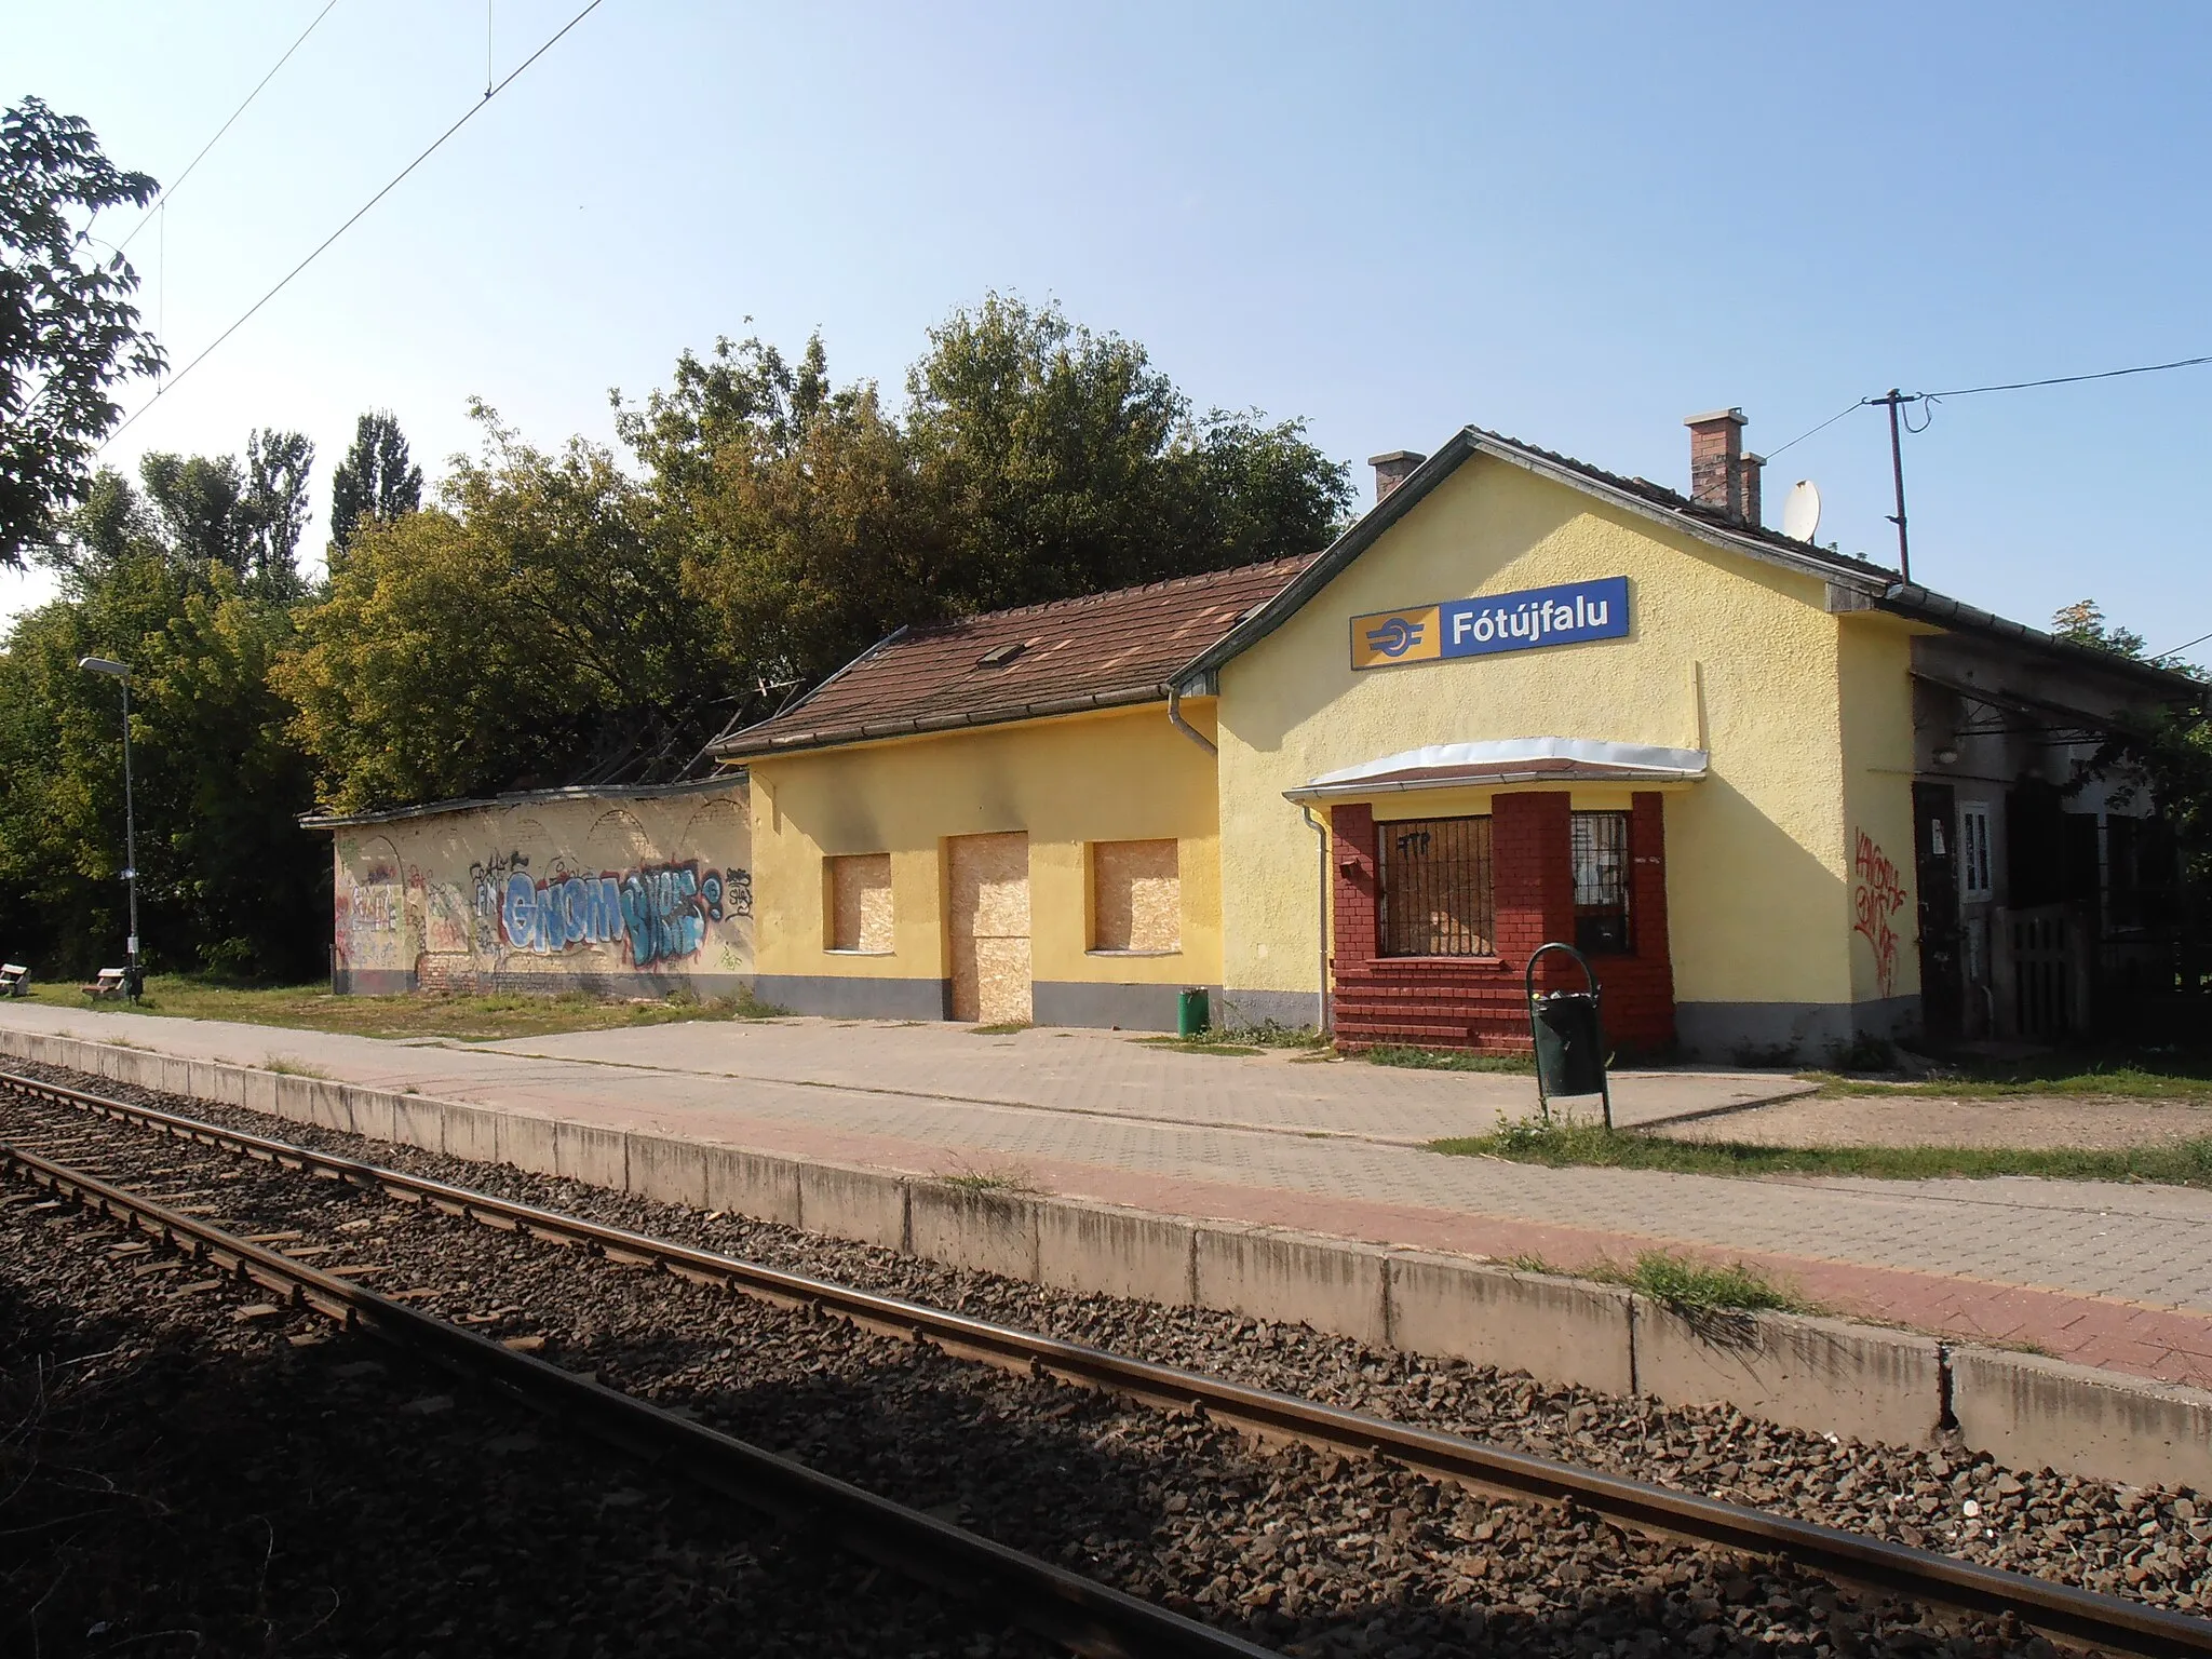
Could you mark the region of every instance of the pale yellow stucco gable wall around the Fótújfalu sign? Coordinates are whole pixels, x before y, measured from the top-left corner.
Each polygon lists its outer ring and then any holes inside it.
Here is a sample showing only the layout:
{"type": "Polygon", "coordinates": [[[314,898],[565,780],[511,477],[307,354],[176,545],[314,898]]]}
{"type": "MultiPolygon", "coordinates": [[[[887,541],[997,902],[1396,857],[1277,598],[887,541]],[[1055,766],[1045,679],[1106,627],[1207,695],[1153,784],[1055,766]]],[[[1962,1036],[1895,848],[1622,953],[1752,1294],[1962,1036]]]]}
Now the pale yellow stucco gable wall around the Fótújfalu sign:
{"type": "Polygon", "coordinates": [[[1849,1002],[1840,692],[1820,580],[1478,456],[1221,670],[1223,982],[1232,1000],[1318,982],[1314,836],[1283,790],[1422,743],[1586,737],[1712,752],[1666,799],[1677,1000],[1849,1002]],[[1626,639],[1349,666],[1354,615],[1606,575],[1630,580],[1626,639]]]}

